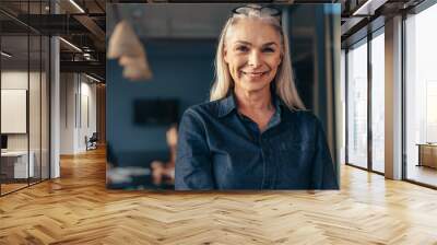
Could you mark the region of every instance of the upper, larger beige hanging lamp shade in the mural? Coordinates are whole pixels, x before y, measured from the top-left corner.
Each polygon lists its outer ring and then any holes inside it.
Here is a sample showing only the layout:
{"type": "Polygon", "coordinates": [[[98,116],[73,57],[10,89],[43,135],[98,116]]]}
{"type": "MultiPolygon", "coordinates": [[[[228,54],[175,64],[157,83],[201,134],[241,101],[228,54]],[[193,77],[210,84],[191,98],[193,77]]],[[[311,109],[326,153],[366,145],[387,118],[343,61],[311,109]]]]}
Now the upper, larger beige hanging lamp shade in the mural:
{"type": "Polygon", "coordinates": [[[107,57],[117,59],[121,56],[144,56],[144,48],[127,21],[119,22],[109,38],[107,57]]]}

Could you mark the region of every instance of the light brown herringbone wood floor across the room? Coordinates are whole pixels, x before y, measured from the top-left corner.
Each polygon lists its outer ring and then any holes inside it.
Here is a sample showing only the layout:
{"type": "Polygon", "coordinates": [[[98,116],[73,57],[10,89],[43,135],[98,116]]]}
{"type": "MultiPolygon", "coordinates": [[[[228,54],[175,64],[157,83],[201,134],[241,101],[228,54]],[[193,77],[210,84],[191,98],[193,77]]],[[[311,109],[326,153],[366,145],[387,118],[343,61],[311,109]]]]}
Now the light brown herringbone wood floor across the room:
{"type": "Polygon", "coordinates": [[[105,188],[105,152],[0,198],[0,244],[437,244],[437,191],[342,167],[340,191],[105,188]]]}

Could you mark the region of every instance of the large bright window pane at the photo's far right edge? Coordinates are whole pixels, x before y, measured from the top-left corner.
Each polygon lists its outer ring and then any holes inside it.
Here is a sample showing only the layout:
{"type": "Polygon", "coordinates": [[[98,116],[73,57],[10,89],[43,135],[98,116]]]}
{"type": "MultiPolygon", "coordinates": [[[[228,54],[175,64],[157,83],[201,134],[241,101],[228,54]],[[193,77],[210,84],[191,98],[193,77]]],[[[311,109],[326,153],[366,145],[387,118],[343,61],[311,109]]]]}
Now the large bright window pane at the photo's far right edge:
{"type": "Polygon", "coordinates": [[[409,16],[406,32],[406,178],[437,186],[437,4],[409,16]]]}

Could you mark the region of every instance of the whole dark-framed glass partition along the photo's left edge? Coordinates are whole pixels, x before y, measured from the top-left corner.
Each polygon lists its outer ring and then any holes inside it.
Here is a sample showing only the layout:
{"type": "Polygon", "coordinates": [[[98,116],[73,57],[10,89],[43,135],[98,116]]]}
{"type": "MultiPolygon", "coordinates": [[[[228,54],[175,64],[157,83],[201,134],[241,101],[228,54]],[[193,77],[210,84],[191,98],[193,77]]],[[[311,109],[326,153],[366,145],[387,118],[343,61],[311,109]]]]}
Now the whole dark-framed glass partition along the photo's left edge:
{"type": "MultiPolygon", "coordinates": [[[[5,4],[22,19],[48,1],[5,4]]],[[[49,177],[49,38],[11,16],[0,13],[1,196],[49,177]]]]}

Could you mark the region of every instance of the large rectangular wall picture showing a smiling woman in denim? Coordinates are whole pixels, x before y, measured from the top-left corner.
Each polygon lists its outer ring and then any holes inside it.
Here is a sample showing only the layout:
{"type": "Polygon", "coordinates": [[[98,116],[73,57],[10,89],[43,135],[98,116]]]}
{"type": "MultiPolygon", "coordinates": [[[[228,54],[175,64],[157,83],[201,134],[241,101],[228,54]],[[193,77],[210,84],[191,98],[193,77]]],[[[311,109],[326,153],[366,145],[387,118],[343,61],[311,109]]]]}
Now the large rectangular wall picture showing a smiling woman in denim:
{"type": "Polygon", "coordinates": [[[108,188],[339,188],[340,4],[107,7],[108,188]]]}

